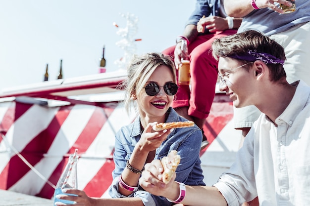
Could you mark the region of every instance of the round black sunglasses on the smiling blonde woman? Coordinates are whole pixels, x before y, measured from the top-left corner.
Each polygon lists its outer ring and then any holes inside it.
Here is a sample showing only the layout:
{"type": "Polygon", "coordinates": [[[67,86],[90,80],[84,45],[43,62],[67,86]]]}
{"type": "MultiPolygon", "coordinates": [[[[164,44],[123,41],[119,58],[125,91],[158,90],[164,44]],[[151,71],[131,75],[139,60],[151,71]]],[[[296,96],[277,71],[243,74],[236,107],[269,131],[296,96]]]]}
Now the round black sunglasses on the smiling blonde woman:
{"type": "Polygon", "coordinates": [[[143,88],[145,89],[145,92],[147,93],[147,95],[155,96],[156,94],[159,93],[160,87],[163,87],[163,90],[166,92],[166,94],[171,95],[171,96],[176,94],[179,88],[178,85],[173,82],[165,83],[165,85],[163,86],[159,86],[157,83],[151,82],[143,88]]]}

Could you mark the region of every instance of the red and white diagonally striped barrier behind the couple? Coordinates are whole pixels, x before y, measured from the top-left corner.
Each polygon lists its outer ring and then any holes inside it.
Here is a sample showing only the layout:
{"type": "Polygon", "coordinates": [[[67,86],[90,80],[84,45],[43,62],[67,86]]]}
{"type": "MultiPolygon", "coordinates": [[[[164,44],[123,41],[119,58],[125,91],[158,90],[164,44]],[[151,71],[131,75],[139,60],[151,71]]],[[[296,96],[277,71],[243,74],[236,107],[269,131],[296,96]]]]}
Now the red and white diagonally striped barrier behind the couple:
{"type": "MultiPolygon", "coordinates": [[[[51,199],[69,154],[78,149],[78,189],[106,197],[114,169],[115,132],[135,117],[113,101],[100,106],[47,106],[18,98],[2,100],[0,189],[51,199]]],[[[229,168],[239,148],[241,135],[231,120],[232,102],[216,94],[204,126],[210,144],[201,151],[207,185],[229,168]]]]}

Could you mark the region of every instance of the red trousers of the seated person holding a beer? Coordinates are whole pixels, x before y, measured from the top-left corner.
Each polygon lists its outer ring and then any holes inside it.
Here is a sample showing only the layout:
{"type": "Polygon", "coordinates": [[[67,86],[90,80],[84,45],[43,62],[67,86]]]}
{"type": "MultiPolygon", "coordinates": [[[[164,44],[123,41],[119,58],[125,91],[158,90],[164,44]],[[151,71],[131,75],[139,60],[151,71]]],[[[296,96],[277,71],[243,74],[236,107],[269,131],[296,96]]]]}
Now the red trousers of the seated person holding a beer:
{"type": "MultiPolygon", "coordinates": [[[[217,61],[212,56],[213,40],[237,33],[237,30],[225,30],[198,36],[188,45],[190,53],[191,87],[179,85],[172,107],[189,107],[188,115],[205,119],[209,115],[215,95],[217,81],[217,61]]],[[[174,57],[175,46],[163,54],[174,57]]],[[[178,77],[178,70],[177,77],[178,77]]]]}

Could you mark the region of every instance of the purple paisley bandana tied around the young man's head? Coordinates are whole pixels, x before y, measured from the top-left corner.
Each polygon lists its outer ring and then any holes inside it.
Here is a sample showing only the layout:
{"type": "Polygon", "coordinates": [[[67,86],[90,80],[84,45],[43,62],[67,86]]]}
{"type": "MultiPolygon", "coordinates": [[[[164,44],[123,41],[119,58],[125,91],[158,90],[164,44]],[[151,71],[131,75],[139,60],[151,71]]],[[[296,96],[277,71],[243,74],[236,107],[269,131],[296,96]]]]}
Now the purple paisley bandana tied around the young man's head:
{"type": "Polygon", "coordinates": [[[239,56],[239,55],[231,55],[228,56],[233,59],[245,60],[254,62],[256,60],[262,61],[264,64],[284,64],[284,60],[277,59],[275,56],[272,56],[268,53],[261,53],[257,52],[255,49],[254,51],[249,50],[246,54],[239,56]]]}

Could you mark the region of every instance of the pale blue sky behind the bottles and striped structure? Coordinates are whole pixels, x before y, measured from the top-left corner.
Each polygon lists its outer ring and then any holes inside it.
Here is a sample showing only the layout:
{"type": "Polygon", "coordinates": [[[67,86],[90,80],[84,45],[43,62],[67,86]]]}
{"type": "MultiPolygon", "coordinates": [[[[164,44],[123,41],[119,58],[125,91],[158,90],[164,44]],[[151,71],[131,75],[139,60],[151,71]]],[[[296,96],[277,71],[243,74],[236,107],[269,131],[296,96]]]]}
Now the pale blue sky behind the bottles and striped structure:
{"type": "Polygon", "coordinates": [[[138,18],[136,54],[162,51],[182,34],[195,2],[0,0],[0,91],[42,82],[47,64],[55,80],[61,59],[64,79],[97,74],[103,45],[106,72],[121,69],[114,63],[125,52],[116,45],[126,26],[121,14],[138,18]]]}

